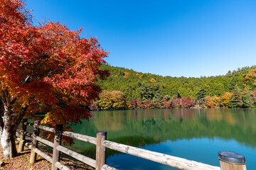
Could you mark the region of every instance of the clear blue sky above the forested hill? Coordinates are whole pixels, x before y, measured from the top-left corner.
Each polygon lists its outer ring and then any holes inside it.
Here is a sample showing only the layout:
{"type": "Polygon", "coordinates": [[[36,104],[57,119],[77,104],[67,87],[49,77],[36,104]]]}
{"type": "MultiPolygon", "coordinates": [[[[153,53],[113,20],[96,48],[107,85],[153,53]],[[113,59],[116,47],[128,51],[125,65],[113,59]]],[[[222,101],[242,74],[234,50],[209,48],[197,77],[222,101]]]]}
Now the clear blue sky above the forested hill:
{"type": "Polygon", "coordinates": [[[171,77],[256,64],[255,0],[27,0],[48,18],[97,37],[112,66],[171,77]]]}

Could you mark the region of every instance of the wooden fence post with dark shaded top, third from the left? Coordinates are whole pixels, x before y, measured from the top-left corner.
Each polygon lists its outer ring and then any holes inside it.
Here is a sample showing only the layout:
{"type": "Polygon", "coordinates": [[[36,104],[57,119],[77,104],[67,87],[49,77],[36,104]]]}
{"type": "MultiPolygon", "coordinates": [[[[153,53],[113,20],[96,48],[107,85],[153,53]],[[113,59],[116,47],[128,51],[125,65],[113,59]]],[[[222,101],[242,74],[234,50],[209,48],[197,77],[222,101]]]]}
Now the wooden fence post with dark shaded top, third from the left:
{"type": "Polygon", "coordinates": [[[55,126],[55,136],[53,142],[53,164],[52,170],[57,170],[58,168],[55,166],[56,162],[60,162],[60,152],[57,150],[58,145],[61,145],[63,134],[63,125],[56,125],[55,126]]]}

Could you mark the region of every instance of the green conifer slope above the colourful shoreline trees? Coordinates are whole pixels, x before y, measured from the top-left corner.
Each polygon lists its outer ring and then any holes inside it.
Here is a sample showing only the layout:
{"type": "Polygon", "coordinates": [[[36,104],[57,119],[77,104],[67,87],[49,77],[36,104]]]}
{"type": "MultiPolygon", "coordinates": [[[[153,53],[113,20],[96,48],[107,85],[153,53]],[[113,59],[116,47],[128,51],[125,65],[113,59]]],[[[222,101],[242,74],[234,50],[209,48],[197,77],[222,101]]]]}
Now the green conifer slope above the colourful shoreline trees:
{"type": "MultiPolygon", "coordinates": [[[[101,80],[98,84],[103,90],[122,91],[128,101],[136,98],[143,100],[157,100],[164,96],[198,98],[204,96],[223,96],[225,92],[234,90],[237,84],[240,89],[245,88],[245,76],[256,66],[242,67],[242,69],[228,72],[223,76],[215,77],[162,77],[156,74],[135,72],[132,69],[103,65],[102,69],[110,70],[111,76],[101,80]]],[[[247,86],[256,89],[252,85],[253,80],[247,82],[247,86]]]]}

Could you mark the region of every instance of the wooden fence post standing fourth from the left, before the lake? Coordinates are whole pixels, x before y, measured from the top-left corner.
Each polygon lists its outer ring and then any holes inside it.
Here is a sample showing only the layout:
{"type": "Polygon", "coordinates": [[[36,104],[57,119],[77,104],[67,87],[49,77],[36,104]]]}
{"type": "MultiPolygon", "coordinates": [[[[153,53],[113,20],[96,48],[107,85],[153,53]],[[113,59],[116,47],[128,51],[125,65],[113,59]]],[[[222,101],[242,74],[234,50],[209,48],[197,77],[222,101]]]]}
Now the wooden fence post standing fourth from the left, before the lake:
{"type": "Polygon", "coordinates": [[[106,164],[106,148],[102,146],[102,142],[107,140],[107,131],[97,132],[96,145],[96,170],[100,170],[106,164]]]}

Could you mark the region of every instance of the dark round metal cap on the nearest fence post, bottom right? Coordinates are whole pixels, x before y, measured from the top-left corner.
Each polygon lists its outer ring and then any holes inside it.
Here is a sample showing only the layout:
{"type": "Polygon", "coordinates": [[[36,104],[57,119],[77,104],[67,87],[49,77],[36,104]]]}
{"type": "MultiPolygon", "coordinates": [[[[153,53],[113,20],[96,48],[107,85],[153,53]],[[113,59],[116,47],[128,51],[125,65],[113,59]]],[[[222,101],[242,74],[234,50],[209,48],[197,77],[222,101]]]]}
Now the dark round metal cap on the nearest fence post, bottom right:
{"type": "Polygon", "coordinates": [[[220,151],[218,152],[218,158],[223,162],[230,164],[246,164],[245,157],[242,154],[231,151],[220,151]]]}

